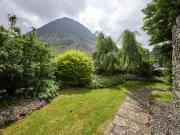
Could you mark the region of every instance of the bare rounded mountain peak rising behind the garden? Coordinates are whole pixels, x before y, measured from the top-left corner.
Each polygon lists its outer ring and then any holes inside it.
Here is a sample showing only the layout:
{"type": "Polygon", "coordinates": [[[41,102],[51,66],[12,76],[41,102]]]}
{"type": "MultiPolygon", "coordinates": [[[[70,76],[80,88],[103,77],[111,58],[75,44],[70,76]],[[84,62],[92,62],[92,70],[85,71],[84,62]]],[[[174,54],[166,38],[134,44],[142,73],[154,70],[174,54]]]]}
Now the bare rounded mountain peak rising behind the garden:
{"type": "Polygon", "coordinates": [[[51,43],[55,54],[73,48],[91,54],[95,49],[96,36],[88,28],[70,18],[52,21],[36,32],[40,40],[51,43]]]}

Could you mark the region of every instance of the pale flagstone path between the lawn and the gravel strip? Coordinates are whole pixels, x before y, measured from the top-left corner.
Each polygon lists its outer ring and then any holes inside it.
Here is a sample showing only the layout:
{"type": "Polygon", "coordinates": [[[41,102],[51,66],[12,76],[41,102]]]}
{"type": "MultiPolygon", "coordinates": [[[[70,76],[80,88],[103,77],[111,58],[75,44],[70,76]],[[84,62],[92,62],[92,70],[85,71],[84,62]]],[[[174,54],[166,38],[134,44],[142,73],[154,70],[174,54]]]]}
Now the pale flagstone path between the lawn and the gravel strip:
{"type": "Polygon", "coordinates": [[[150,135],[150,93],[146,89],[132,91],[104,135],[150,135]]]}

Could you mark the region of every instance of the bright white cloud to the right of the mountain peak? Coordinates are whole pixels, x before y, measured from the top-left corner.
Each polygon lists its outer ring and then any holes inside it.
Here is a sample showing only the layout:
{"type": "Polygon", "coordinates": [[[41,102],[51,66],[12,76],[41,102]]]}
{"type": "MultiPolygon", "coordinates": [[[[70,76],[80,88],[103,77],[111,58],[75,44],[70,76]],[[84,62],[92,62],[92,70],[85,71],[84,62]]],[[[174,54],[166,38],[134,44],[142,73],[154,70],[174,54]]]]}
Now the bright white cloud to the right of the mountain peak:
{"type": "Polygon", "coordinates": [[[143,14],[141,10],[147,4],[144,0],[90,0],[86,10],[79,15],[78,20],[92,31],[101,30],[111,35],[114,40],[123,30],[139,31],[138,39],[148,44],[147,35],[142,32],[143,14]]]}

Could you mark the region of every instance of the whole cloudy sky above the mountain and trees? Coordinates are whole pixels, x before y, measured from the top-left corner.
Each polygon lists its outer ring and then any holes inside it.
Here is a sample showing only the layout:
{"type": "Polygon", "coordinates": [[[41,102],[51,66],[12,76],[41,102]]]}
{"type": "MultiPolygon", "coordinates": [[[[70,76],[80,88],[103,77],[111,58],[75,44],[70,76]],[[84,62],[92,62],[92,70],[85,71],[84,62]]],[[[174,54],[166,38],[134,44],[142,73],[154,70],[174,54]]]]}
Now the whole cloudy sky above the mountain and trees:
{"type": "Polygon", "coordinates": [[[125,29],[139,31],[138,40],[148,46],[141,30],[141,10],[150,0],[0,0],[0,24],[7,26],[7,14],[15,14],[23,32],[62,17],[79,21],[92,32],[97,30],[116,41],[125,29]]]}

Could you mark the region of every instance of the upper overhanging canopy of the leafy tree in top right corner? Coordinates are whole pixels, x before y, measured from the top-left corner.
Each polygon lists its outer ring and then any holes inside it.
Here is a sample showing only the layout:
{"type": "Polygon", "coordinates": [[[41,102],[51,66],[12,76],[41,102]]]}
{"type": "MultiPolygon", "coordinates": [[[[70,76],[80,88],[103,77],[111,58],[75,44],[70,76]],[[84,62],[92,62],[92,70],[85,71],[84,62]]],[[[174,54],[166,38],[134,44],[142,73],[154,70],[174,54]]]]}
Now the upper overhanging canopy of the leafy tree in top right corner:
{"type": "Polygon", "coordinates": [[[143,29],[150,35],[150,43],[172,41],[172,28],[180,14],[178,0],[152,0],[143,9],[145,15],[143,29]]]}

